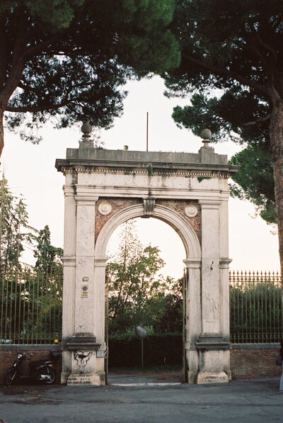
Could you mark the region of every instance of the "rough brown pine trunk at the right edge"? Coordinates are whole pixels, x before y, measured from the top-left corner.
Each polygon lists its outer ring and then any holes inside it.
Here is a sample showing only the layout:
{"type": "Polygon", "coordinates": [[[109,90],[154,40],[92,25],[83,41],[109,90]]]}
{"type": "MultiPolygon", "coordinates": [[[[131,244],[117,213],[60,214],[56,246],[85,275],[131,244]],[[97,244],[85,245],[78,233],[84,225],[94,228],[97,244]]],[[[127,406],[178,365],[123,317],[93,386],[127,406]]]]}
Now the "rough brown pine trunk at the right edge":
{"type": "Polygon", "coordinates": [[[272,110],[270,119],[270,147],[274,166],[279,259],[281,273],[283,274],[283,102],[277,103],[272,110]]]}

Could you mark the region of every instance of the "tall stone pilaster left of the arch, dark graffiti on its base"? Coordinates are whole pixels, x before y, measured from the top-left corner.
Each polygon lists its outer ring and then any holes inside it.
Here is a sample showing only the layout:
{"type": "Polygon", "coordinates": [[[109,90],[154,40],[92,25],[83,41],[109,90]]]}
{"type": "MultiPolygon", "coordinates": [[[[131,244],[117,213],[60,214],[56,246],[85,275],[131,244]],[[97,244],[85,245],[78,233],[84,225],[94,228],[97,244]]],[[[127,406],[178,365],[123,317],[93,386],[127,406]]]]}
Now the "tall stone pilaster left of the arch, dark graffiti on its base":
{"type": "Polygon", "coordinates": [[[74,294],[74,332],[64,339],[71,351],[68,385],[100,385],[96,373],[96,342],[93,321],[95,211],[98,197],[76,195],[76,280],[74,294]]]}

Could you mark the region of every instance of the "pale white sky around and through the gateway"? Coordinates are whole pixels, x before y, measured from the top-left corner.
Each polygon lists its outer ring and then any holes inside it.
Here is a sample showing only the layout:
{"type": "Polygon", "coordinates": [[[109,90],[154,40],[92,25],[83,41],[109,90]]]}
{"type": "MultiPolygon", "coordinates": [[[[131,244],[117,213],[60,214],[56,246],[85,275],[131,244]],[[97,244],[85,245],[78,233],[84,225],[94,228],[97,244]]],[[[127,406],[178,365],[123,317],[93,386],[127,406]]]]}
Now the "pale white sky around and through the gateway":
{"type": "MultiPolygon", "coordinates": [[[[164,85],[159,77],[130,81],[126,90],[122,118],[115,120],[110,130],[101,132],[105,148],[122,150],[146,150],[146,112],[149,112],[149,150],[173,152],[197,152],[202,146],[200,137],[188,130],[177,128],[171,114],[176,105],[187,100],[163,96],[164,85]]],[[[81,138],[79,128],[54,130],[45,125],[40,145],[23,142],[17,135],[6,132],[1,170],[13,193],[21,193],[28,205],[30,225],[38,230],[50,226],[52,243],[63,247],[64,176],[55,169],[55,159],[64,159],[67,147],[78,147],[81,138]]],[[[235,154],[239,147],[233,142],[214,145],[216,153],[235,154]]],[[[279,270],[277,235],[261,218],[255,218],[255,208],[247,201],[231,198],[229,201],[229,245],[231,269],[279,270]]],[[[156,219],[139,220],[139,237],[143,244],[158,246],[166,261],[163,273],[180,277],[183,273],[185,250],[176,232],[166,223],[156,219]]],[[[117,246],[117,237],[110,239],[110,250],[117,246]]],[[[25,261],[32,261],[25,254],[25,261]]]]}

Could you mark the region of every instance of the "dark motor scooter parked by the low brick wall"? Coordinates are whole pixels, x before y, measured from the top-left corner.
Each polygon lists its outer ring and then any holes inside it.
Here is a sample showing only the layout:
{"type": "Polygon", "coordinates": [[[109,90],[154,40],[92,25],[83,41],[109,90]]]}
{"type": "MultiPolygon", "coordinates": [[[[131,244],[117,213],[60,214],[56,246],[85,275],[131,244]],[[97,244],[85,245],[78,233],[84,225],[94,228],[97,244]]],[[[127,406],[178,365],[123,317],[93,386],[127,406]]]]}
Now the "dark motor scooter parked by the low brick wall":
{"type": "Polygon", "coordinates": [[[33,354],[28,356],[23,354],[21,351],[18,351],[16,360],[13,362],[13,366],[8,368],[5,375],[4,383],[7,386],[13,385],[18,379],[31,379],[39,382],[51,384],[54,383],[56,379],[56,371],[54,369],[54,359],[57,359],[59,356],[59,351],[51,351],[53,360],[40,360],[32,361],[29,363],[30,373],[28,376],[23,376],[23,361],[29,360],[33,354]],[[52,354],[52,352],[54,354],[52,354]],[[57,353],[57,354],[55,354],[57,353]]]}

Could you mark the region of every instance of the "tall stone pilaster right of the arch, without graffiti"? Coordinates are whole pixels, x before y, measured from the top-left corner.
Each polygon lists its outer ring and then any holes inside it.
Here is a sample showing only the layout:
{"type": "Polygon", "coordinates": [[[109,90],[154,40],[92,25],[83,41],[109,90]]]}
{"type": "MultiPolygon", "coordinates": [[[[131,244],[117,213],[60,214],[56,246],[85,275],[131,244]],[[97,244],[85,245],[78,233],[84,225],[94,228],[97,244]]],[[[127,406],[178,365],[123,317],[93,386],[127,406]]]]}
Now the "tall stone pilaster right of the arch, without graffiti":
{"type": "Polygon", "coordinates": [[[224,351],[229,349],[229,342],[224,340],[221,333],[221,202],[207,199],[199,203],[202,209],[202,332],[195,343],[200,365],[197,383],[228,382],[229,376],[224,371],[224,351]]]}

